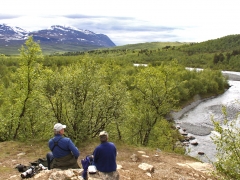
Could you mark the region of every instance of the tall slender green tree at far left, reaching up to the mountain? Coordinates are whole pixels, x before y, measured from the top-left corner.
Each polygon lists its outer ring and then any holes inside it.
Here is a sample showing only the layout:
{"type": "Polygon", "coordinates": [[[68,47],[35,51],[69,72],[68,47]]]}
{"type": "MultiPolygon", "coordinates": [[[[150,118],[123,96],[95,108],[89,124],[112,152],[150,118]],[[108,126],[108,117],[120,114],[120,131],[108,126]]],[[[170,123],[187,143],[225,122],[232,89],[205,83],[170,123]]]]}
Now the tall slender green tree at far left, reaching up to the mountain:
{"type": "Polygon", "coordinates": [[[20,49],[20,53],[19,68],[16,73],[11,74],[8,88],[3,88],[1,108],[3,126],[0,130],[3,140],[34,137],[42,130],[42,127],[35,126],[38,118],[41,118],[41,112],[37,111],[39,110],[37,107],[40,103],[38,79],[42,67],[36,62],[42,58],[41,48],[30,37],[20,49]]]}

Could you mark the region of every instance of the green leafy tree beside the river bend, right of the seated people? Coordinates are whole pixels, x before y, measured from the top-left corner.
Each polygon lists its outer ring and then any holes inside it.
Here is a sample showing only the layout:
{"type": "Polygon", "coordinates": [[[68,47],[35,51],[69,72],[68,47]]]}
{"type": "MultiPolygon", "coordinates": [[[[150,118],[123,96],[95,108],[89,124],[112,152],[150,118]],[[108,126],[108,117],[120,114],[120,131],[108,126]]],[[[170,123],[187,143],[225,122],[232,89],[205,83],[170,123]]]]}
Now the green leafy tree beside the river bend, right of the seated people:
{"type": "Polygon", "coordinates": [[[140,69],[134,76],[134,89],[130,103],[133,122],[129,124],[132,143],[147,145],[150,134],[178,102],[174,66],[159,66],[140,69]],[[131,127],[131,128],[130,128],[131,127]]]}

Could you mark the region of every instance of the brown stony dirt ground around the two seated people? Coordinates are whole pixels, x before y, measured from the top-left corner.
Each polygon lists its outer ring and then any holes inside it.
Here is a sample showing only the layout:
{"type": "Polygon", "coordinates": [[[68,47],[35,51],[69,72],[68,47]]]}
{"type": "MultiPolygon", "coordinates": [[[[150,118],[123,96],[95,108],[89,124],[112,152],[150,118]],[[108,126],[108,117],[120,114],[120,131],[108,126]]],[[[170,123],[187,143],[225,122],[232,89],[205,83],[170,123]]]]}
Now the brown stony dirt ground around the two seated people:
{"type": "MultiPolygon", "coordinates": [[[[91,154],[97,143],[79,147],[80,159],[91,154]]],[[[189,156],[174,153],[157,152],[156,150],[141,147],[117,145],[117,164],[121,180],[215,180],[209,170],[209,164],[201,163],[189,156]],[[132,160],[135,154],[137,160],[132,160]],[[152,172],[145,172],[138,168],[141,163],[153,166],[152,172]]],[[[8,179],[20,173],[15,168],[18,164],[29,165],[38,158],[44,158],[49,151],[46,142],[1,142],[0,143],[0,179],[8,179]]]]}

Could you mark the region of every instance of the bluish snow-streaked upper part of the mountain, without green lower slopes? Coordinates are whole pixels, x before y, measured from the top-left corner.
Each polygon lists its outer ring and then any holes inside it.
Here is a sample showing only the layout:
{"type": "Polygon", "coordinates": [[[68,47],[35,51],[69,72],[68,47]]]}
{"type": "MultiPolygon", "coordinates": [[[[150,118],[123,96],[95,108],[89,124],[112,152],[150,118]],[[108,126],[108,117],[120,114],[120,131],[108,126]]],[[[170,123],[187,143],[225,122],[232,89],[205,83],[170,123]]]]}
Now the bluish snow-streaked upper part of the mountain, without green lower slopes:
{"type": "MultiPolygon", "coordinates": [[[[89,30],[71,26],[53,25],[50,28],[28,32],[20,27],[0,24],[0,45],[4,42],[14,43],[16,40],[26,40],[29,36],[39,41],[41,45],[71,44],[83,46],[112,47],[115,44],[104,34],[95,34],[89,30]]],[[[15,42],[16,43],[16,42],[15,42]]],[[[21,41],[18,41],[21,43],[21,41]]]]}

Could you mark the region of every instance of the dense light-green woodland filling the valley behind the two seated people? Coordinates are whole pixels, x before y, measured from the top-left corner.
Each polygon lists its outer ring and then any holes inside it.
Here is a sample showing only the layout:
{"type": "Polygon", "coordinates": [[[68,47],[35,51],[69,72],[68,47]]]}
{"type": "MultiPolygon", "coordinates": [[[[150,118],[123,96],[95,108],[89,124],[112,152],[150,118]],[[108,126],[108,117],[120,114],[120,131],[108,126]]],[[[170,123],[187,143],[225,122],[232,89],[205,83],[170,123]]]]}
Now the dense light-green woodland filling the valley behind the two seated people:
{"type": "Polygon", "coordinates": [[[107,130],[113,141],[183,152],[167,115],[227,88],[220,71],[189,71],[176,60],[134,67],[137,59],[117,56],[43,57],[32,38],[20,52],[15,66],[1,61],[0,141],[49,139],[60,122],[76,143],[107,130]]]}

